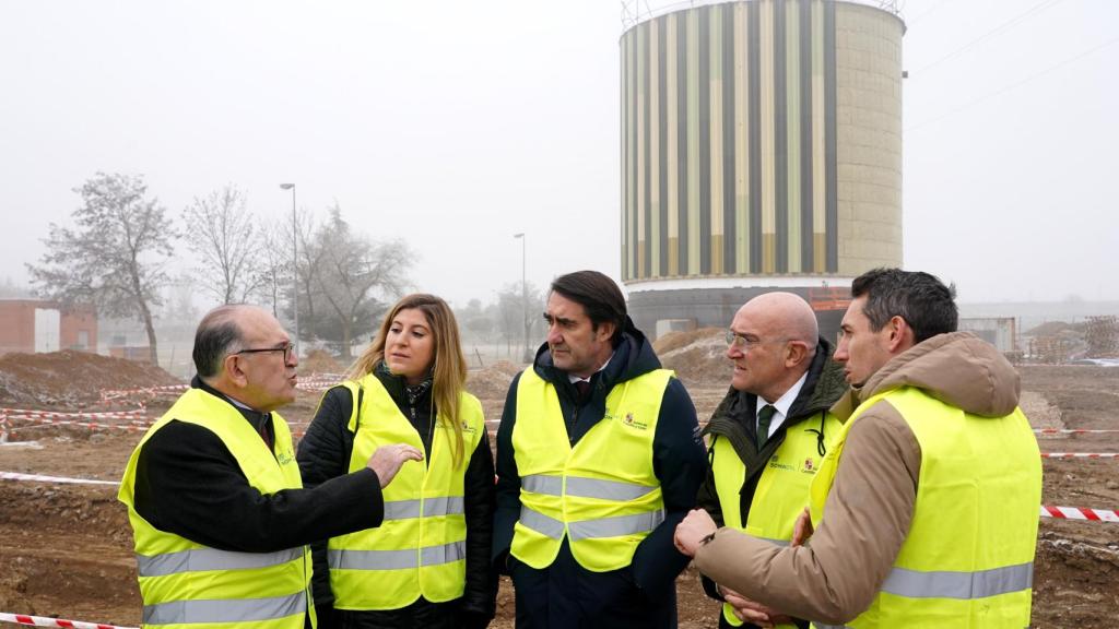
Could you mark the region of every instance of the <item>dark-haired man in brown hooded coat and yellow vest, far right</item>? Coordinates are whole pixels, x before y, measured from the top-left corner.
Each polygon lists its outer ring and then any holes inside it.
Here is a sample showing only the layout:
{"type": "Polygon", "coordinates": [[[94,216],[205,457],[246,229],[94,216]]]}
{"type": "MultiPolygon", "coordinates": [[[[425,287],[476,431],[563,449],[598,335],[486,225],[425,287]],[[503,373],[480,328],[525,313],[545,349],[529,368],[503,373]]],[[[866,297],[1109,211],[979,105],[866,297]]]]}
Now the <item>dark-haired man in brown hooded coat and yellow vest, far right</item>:
{"type": "Polygon", "coordinates": [[[956,331],[952,290],[928,273],[877,269],[852,295],[836,349],[852,389],[831,409],[845,425],[794,545],[716,531],[700,510],[677,545],[817,627],[1027,627],[1042,471],[1017,373],[956,331]]]}

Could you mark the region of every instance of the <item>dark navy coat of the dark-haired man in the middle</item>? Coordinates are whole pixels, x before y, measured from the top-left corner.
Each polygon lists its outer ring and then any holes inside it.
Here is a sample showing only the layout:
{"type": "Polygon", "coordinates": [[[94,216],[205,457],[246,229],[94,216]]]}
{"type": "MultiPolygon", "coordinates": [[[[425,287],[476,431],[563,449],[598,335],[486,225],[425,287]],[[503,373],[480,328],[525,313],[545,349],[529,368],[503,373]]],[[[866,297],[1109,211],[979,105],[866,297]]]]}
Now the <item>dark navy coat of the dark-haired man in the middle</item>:
{"type": "MultiPolygon", "coordinates": [[[[591,378],[586,400],[579,398],[567,374],[553,365],[546,345],[533,365],[537,375],[555,386],[563,415],[570,419],[572,445],[602,420],[606,395],[615,385],[657,368],[660,360],[652,346],[630,321],[605,369],[591,378]]],[[[666,387],[652,443],[665,522],[641,542],[630,565],[591,572],[575,561],[564,539],[552,565],[535,570],[509,555],[513,527],[520,516],[520,476],[513,449],[519,378],[509,387],[497,433],[498,510],[493,528],[496,566],[509,571],[516,588],[517,627],[676,627],[676,576],[687,566],[688,557],[676,550],[673,535],[695,506],[696,490],[707,470],[695,406],[684,385],[673,378],[666,387]]]]}

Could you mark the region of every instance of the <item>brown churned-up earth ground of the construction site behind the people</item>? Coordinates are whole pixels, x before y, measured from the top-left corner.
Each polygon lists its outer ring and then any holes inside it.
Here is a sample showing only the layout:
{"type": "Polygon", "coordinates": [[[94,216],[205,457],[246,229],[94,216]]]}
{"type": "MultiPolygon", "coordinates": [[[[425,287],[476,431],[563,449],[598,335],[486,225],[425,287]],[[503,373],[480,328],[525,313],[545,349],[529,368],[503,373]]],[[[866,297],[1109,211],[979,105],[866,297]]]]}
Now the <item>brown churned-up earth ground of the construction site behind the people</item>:
{"type": "MultiPolygon", "coordinates": [[[[659,348],[666,366],[677,370],[693,394],[700,421],[714,410],[728,381],[720,346],[709,336],[659,348]]],[[[169,378],[151,368],[135,370],[132,364],[88,355],[69,355],[46,366],[39,360],[35,369],[19,363],[10,356],[0,362],[2,407],[105,410],[110,406],[98,402],[101,388],[149,387],[168,384],[169,378]],[[96,377],[91,369],[98,372],[96,377]]],[[[500,417],[506,388],[518,368],[498,364],[471,373],[470,388],[482,398],[487,417],[500,417]]],[[[1035,426],[1119,429],[1119,368],[1026,366],[1021,373],[1023,409],[1035,426]]],[[[124,409],[135,400],[111,407],[124,409]]],[[[158,417],[172,400],[148,400],[147,417],[158,417]]],[[[317,401],[317,393],[301,393],[283,411],[293,431],[305,429],[317,401]]],[[[98,422],[124,426],[130,420],[98,422]]],[[[140,435],[140,430],[124,428],[9,420],[0,471],[116,481],[140,435]]],[[[1119,451],[1119,433],[1038,441],[1043,452],[1119,451]]],[[[1046,505],[1119,508],[1119,460],[1045,459],[1044,471],[1046,505]]],[[[116,488],[109,485],[0,480],[0,612],[139,625],[131,532],[115,495],[116,488]]],[[[717,626],[718,605],[703,594],[694,569],[680,575],[677,590],[681,628],[717,626]]],[[[1119,524],[1042,518],[1033,609],[1033,626],[1038,628],[1113,628],[1119,621],[1119,524]]],[[[492,627],[513,627],[513,591],[504,579],[492,627]]]]}

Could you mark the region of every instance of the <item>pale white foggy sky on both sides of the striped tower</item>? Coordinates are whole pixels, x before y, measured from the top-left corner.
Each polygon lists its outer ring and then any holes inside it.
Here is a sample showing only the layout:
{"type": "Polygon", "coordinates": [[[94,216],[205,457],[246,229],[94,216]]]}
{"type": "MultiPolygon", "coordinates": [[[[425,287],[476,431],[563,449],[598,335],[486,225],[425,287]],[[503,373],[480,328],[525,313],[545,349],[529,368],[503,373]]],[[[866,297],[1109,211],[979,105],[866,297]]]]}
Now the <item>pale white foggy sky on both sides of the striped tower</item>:
{"type": "MultiPolygon", "coordinates": [[[[657,2],[652,2],[653,6],[657,2]]],[[[902,3],[904,265],[961,301],[1119,299],[1119,2],[902,3]],[[1112,212],[1108,212],[1111,209],[1112,212]]],[[[618,278],[620,4],[0,0],[0,281],[96,171],[404,238],[415,288],[618,278]]],[[[186,254],[186,252],[182,252],[186,254]]]]}

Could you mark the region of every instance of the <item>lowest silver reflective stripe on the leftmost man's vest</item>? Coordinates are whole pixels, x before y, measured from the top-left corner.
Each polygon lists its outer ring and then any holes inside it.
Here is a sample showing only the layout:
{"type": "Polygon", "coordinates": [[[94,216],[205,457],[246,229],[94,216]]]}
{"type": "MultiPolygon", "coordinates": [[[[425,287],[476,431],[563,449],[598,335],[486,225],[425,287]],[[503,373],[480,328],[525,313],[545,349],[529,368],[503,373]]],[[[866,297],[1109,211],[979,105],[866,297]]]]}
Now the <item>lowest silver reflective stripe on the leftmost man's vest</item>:
{"type": "Polygon", "coordinates": [[[307,597],[297,592],[288,597],[233,601],[171,601],[144,605],[143,623],[195,625],[199,622],[260,622],[298,616],[303,626],[307,597]]]}

